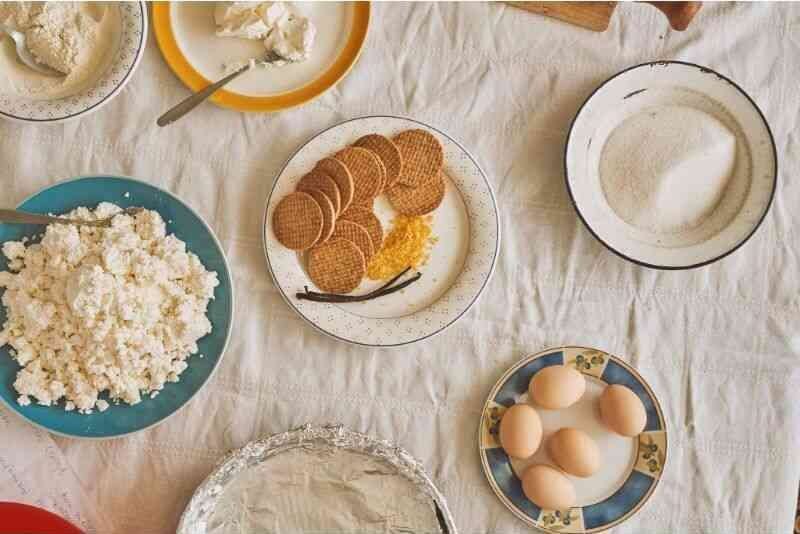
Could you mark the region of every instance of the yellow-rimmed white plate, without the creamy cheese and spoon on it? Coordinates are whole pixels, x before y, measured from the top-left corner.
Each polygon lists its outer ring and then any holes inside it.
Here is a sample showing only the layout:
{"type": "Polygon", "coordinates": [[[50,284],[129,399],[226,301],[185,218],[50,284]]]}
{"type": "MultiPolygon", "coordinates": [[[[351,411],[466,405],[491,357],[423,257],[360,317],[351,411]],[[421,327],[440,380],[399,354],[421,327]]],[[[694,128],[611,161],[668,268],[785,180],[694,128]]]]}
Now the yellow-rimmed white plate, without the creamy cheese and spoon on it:
{"type": "MultiPolygon", "coordinates": [[[[370,3],[296,5],[317,25],[317,43],[311,58],[280,69],[248,72],[217,91],[210,99],[212,102],[237,111],[280,111],[313,100],[344,78],[364,46],[370,3]]],[[[213,13],[213,2],[153,4],[153,28],[161,53],[192,91],[222,78],[226,61],[263,52],[257,41],[216,37],[213,13]]]]}

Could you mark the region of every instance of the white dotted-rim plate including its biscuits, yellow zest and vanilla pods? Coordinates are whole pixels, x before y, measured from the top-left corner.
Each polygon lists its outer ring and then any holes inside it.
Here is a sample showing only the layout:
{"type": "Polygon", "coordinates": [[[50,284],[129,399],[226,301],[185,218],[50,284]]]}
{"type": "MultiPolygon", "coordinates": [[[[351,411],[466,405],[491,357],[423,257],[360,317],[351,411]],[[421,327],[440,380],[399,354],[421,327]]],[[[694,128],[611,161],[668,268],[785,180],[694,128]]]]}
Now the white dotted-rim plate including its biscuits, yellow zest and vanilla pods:
{"type": "Polygon", "coordinates": [[[497,203],[475,158],[413,119],[348,120],[302,145],[264,212],[283,298],[341,341],[393,347],[462,317],[494,271],[497,203]]]}

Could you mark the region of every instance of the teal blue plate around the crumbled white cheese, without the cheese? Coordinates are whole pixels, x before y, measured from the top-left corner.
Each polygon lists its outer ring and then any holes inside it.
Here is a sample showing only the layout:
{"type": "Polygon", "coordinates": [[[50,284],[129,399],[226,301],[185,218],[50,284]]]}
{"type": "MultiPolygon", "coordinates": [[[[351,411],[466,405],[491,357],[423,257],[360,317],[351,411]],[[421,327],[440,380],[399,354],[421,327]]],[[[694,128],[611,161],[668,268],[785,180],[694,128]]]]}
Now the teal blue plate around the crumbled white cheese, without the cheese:
{"type": "MultiPolygon", "coordinates": [[[[233,322],[233,284],[222,247],[205,221],[172,194],[132,178],[89,176],[48,187],[22,202],[18,208],[34,213],[64,213],[79,206],[93,208],[103,201],[121,207],[142,206],[157,211],[167,222],[167,233],[185,241],[187,249],[200,258],[206,269],[217,272],[220,284],[208,306],[213,330],[198,342],[199,354],[203,358],[192,356],[180,382],[167,384],[154,399],[145,396],[135,406],[112,404],[106,411],[90,415],[66,412],[63,405],[20,406],[13,387],[20,366],[9,355],[7,346],[0,347],[0,400],[34,425],[76,438],[124,436],[161,423],[177,412],[202,389],[219,365],[233,322]]],[[[43,230],[42,226],[0,224],[0,243],[34,236],[43,230]]],[[[3,256],[0,258],[0,271],[7,269],[8,263],[3,256]]],[[[0,305],[0,323],[5,320],[6,310],[0,305]]],[[[107,399],[104,395],[101,398],[107,399]]]]}

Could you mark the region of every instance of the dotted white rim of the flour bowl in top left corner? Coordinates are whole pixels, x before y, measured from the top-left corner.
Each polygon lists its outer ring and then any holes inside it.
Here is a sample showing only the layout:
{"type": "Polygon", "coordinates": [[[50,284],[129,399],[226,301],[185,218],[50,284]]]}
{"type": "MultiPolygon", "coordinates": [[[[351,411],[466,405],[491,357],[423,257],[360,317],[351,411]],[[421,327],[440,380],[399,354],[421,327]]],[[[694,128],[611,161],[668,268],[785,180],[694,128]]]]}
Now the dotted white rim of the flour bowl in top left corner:
{"type": "Polygon", "coordinates": [[[32,100],[0,94],[0,116],[22,122],[62,122],[97,111],[130,80],[147,43],[147,6],[144,2],[114,3],[120,11],[119,48],[107,71],[91,87],[56,100],[32,100]]]}

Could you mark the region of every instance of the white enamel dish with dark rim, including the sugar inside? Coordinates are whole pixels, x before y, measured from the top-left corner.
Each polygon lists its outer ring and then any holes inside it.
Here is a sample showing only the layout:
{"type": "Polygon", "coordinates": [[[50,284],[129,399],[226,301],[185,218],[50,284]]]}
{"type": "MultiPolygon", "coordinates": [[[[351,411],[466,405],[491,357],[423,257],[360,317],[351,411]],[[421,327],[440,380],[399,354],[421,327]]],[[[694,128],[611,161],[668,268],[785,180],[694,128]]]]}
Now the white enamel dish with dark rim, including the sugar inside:
{"type": "Polygon", "coordinates": [[[733,81],[678,61],[631,67],[584,102],[564,156],[588,230],[645,267],[690,269],[742,246],[772,204],[777,152],[733,81]]]}

